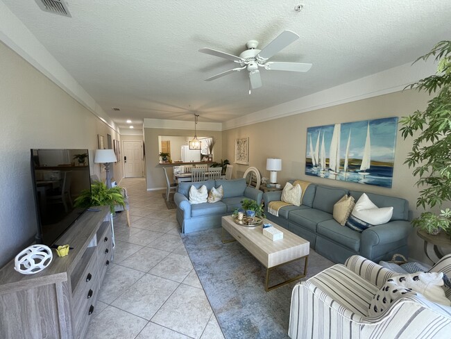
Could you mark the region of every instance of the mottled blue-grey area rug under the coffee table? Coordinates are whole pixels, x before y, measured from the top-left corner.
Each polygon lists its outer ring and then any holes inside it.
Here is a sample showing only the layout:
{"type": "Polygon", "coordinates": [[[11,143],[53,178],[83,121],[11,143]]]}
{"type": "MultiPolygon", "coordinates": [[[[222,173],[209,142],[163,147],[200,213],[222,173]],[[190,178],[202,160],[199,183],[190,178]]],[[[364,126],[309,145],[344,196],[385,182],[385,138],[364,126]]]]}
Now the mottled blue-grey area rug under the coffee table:
{"type": "MultiPolygon", "coordinates": [[[[266,269],[239,242],[223,244],[221,228],[182,234],[182,239],[226,338],[289,338],[291,290],[296,282],[265,292],[266,269]]],[[[332,265],[310,249],[305,279],[332,265]]],[[[303,261],[271,274],[282,279],[301,270],[303,261]]]]}

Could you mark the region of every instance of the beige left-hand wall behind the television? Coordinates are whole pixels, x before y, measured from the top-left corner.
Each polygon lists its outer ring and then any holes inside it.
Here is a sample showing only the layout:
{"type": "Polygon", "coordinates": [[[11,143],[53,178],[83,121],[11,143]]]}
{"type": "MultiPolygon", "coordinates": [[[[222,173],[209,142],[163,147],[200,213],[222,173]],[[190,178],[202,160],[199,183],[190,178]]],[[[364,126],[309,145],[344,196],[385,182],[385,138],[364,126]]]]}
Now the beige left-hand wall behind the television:
{"type": "MultiPolygon", "coordinates": [[[[31,245],[37,231],[31,148],[89,149],[115,131],[0,42],[0,267],[31,245]]],[[[99,174],[99,165],[92,173],[99,174]]],[[[122,176],[114,165],[115,176],[122,176]]]]}

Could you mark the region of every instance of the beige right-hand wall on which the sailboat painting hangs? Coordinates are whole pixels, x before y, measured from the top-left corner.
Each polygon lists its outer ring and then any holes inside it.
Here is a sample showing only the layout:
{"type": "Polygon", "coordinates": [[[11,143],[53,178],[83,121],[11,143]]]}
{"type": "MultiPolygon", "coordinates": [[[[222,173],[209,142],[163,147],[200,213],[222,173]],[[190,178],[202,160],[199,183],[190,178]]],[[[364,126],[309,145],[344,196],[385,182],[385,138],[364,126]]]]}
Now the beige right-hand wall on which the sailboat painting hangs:
{"type": "MultiPolygon", "coordinates": [[[[266,158],[281,158],[282,171],[278,172],[278,182],[280,183],[284,183],[288,179],[304,179],[324,185],[336,185],[352,190],[402,197],[409,201],[410,210],[416,217],[422,211],[417,211],[415,208],[418,197],[418,188],[414,185],[416,179],[411,175],[411,169],[403,164],[408,152],[411,151],[411,140],[402,140],[398,132],[393,187],[381,188],[305,175],[306,133],[307,127],[311,126],[381,117],[401,117],[413,113],[416,109],[425,108],[427,99],[426,94],[407,90],[223,131],[223,156],[230,159],[231,162],[235,160],[235,139],[249,137],[249,166],[257,167],[262,176],[269,177],[269,172],[266,171],[266,158]]],[[[233,165],[234,177],[242,176],[248,168],[245,165],[235,163],[233,165]]],[[[414,232],[412,231],[412,233],[414,232]]],[[[410,256],[428,262],[423,256],[422,246],[423,243],[418,237],[411,234],[409,238],[410,256]]]]}

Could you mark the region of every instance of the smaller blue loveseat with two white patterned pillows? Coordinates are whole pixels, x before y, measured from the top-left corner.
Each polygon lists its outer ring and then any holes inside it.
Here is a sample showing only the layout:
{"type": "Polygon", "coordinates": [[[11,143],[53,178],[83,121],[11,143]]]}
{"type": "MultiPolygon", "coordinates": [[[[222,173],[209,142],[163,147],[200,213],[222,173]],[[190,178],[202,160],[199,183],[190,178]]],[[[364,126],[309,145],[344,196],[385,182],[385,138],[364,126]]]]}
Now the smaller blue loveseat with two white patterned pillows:
{"type": "Polygon", "coordinates": [[[177,205],[177,221],[183,233],[201,231],[221,227],[221,217],[231,215],[235,208],[241,207],[241,200],[254,199],[262,201],[263,192],[246,186],[246,179],[235,180],[206,180],[196,183],[179,183],[174,201],[177,205]],[[194,185],[196,189],[202,185],[208,192],[212,187],[223,186],[224,197],[213,204],[189,204],[189,188],[194,185]]]}

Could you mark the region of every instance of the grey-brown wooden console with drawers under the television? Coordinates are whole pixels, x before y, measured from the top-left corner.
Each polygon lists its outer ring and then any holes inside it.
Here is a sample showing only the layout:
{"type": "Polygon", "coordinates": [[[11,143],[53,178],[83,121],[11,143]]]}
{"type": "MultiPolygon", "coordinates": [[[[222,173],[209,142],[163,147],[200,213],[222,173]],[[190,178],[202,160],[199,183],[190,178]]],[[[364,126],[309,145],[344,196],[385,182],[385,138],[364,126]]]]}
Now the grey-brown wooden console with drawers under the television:
{"type": "Polygon", "coordinates": [[[0,270],[0,338],[84,338],[112,258],[110,208],[86,211],[56,240],[69,244],[42,272],[24,275],[14,260],[0,270]]]}

